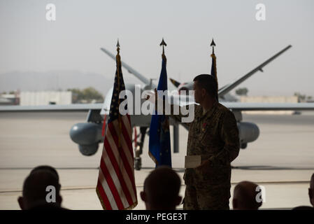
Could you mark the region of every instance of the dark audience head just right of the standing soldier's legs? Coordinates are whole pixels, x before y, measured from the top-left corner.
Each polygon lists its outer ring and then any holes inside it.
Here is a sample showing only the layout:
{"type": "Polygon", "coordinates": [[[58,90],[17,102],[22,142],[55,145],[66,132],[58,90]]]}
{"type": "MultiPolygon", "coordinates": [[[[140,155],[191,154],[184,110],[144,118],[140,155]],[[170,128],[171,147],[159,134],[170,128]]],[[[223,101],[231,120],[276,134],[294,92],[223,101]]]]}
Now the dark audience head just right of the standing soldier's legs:
{"type": "Polygon", "coordinates": [[[242,181],[234,188],[232,206],[235,210],[257,210],[262,206],[262,201],[257,202],[258,185],[250,181],[242,181]]]}

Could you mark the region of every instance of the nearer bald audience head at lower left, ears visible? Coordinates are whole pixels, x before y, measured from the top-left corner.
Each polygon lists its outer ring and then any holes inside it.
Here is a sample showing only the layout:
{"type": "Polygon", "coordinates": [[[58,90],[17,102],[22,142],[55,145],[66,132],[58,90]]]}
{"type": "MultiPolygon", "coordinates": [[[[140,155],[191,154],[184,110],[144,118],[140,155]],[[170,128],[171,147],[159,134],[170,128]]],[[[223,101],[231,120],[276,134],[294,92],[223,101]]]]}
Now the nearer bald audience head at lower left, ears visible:
{"type": "Polygon", "coordinates": [[[21,209],[31,209],[41,204],[47,204],[46,189],[48,186],[53,186],[55,188],[55,206],[59,207],[62,201],[59,195],[60,185],[58,177],[52,172],[47,170],[38,170],[31,172],[27,179],[25,179],[23,184],[22,197],[18,199],[21,209]]]}

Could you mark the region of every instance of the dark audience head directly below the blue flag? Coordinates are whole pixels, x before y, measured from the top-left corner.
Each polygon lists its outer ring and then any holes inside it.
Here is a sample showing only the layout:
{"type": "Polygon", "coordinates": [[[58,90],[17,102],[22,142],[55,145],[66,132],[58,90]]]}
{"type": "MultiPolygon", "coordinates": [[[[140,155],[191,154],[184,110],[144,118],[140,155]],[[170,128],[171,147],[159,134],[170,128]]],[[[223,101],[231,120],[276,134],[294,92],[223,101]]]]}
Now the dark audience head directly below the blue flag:
{"type": "Polygon", "coordinates": [[[181,180],[170,167],[157,167],[144,181],[141,199],[148,210],[174,210],[180,204],[181,180]]]}

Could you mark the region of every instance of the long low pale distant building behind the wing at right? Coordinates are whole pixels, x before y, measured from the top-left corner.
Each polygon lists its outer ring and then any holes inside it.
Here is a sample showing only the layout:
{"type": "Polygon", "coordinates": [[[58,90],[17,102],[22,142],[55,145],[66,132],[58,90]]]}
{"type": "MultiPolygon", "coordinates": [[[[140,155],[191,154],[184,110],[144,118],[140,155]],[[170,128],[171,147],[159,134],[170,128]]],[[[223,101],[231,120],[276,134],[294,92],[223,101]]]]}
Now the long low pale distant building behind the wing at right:
{"type": "MultiPolygon", "coordinates": [[[[241,103],[298,103],[298,97],[248,97],[241,96],[241,103]]],[[[292,114],[295,111],[243,111],[243,113],[248,114],[292,114]]]]}

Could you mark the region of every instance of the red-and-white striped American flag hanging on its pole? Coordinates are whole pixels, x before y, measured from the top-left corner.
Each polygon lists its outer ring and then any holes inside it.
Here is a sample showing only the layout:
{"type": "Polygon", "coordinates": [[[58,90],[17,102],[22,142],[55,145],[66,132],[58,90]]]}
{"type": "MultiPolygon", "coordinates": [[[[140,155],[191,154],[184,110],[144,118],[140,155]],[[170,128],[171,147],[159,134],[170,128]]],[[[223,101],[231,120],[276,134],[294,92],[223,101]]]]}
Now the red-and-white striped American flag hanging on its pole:
{"type": "Polygon", "coordinates": [[[120,102],[124,100],[119,99],[119,93],[125,90],[119,47],[118,42],[113,97],[96,188],[105,210],[133,209],[137,205],[131,120],[129,114],[122,116],[119,113],[120,102]]]}

